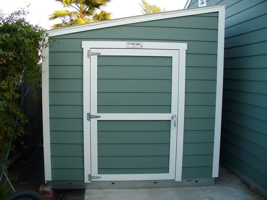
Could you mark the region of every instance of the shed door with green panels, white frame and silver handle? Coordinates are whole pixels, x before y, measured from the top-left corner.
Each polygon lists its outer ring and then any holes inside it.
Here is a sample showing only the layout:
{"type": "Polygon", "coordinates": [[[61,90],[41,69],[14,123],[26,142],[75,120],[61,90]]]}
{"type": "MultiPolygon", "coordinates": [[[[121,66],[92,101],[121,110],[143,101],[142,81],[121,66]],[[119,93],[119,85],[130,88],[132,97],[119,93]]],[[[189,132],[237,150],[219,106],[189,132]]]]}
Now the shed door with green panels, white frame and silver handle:
{"type": "Polygon", "coordinates": [[[91,51],[92,181],[175,179],[179,50],[91,51]]]}

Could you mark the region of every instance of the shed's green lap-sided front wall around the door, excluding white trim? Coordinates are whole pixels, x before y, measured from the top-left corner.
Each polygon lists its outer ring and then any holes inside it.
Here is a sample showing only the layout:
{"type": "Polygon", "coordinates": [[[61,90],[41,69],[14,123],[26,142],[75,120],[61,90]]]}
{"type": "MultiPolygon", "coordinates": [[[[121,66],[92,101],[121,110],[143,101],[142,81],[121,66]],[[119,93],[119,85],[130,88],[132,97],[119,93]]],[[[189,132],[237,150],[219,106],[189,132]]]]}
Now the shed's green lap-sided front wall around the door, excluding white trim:
{"type": "MultiPolygon", "coordinates": [[[[59,35],[49,48],[52,180],[84,180],[82,41],[187,43],[182,178],[211,178],[218,13],[59,35]]],[[[101,165],[104,165],[101,163],[101,165]]]]}

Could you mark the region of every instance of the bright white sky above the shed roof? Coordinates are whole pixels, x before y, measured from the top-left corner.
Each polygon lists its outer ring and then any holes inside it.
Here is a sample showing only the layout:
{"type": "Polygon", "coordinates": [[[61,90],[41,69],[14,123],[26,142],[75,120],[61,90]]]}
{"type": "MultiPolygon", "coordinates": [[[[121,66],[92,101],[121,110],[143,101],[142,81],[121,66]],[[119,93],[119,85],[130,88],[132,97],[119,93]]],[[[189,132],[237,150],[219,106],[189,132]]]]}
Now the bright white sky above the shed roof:
{"type": "MultiPolygon", "coordinates": [[[[171,11],[183,9],[186,0],[146,0],[146,2],[157,5],[162,10],[165,8],[166,11],[171,11]]],[[[112,0],[103,10],[112,13],[112,19],[142,15],[142,8],[138,3],[141,3],[141,0],[112,0]]],[[[19,8],[26,8],[27,5],[29,5],[29,14],[26,20],[45,29],[51,29],[53,24],[61,22],[57,19],[49,21],[48,15],[55,10],[65,10],[61,3],[55,0],[0,0],[0,10],[4,14],[12,13],[19,8]]]]}

